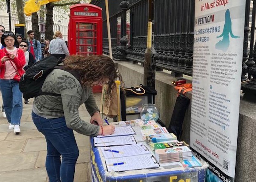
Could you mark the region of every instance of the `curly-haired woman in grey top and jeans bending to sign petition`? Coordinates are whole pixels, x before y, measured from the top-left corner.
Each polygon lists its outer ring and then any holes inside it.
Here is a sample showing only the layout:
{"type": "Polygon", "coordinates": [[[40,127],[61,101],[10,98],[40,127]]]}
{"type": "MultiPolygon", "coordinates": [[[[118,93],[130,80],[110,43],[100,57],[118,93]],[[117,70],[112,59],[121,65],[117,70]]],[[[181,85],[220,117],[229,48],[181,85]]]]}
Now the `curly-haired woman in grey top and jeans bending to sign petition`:
{"type": "Polygon", "coordinates": [[[79,73],[80,82],[70,72],[54,69],[46,77],[42,91],[60,96],[37,96],[32,109],[32,119],[47,142],[46,170],[50,182],[73,182],[79,155],[73,130],[88,136],[114,132],[115,126],[102,125],[91,87],[107,84],[107,93],[111,97],[115,79],[122,82],[114,62],[107,56],[69,56],[63,64],[64,69],[79,73]],[[79,117],[78,109],[83,103],[91,115],[90,122],[79,117]]]}

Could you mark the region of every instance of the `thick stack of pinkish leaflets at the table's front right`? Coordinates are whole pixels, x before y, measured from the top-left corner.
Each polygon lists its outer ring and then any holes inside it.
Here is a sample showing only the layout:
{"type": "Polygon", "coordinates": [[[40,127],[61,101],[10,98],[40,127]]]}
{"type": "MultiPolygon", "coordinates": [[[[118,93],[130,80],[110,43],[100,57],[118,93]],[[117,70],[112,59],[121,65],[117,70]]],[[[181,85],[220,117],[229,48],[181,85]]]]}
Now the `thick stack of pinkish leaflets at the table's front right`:
{"type": "Polygon", "coordinates": [[[155,158],[159,163],[178,162],[191,157],[191,150],[187,146],[155,150],[155,158]]]}

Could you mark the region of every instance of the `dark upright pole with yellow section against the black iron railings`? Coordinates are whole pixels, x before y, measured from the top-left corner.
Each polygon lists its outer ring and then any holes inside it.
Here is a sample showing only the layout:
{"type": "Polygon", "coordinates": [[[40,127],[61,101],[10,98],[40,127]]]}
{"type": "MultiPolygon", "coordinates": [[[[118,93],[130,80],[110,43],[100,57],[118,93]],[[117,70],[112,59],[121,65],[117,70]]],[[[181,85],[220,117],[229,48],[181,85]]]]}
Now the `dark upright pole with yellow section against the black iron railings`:
{"type": "Polygon", "coordinates": [[[154,49],[154,7],[155,0],[148,0],[148,39],[144,60],[144,85],[155,88],[155,49],[154,49]]]}

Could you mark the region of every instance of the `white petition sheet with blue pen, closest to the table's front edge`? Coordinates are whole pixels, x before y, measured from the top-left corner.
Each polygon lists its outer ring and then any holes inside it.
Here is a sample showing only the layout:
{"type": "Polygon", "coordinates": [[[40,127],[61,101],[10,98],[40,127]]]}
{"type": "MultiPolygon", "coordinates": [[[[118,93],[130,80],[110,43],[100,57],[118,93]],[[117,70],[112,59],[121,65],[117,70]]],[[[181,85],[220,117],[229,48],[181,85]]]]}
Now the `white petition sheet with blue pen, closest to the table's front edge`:
{"type": "Polygon", "coordinates": [[[126,171],[126,170],[137,170],[137,169],[148,169],[148,168],[159,167],[159,164],[151,154],[114,158],[114,159],[105,159],[105,162],[107,165],[108,172],[111,172],[112,170],[119,172],[119,171],[126,171]],[[125,163],[125,164],[109,166],[114,163],[125,163]]]}

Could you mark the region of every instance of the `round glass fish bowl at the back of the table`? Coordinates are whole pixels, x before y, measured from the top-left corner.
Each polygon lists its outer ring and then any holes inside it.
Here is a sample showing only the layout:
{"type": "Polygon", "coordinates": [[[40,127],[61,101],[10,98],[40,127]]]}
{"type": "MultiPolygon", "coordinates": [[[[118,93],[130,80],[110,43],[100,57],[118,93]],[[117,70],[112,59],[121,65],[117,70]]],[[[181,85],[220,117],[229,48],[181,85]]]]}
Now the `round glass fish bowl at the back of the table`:
{"type": "Polygon", "coordinates": [[[140,119],[145,121],[154,120],[158,121],[160,116],[155,104],[144,104],[140,111],[140,119]]]}

